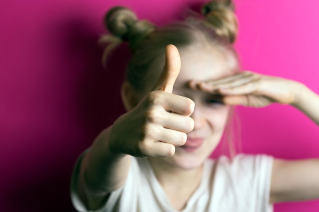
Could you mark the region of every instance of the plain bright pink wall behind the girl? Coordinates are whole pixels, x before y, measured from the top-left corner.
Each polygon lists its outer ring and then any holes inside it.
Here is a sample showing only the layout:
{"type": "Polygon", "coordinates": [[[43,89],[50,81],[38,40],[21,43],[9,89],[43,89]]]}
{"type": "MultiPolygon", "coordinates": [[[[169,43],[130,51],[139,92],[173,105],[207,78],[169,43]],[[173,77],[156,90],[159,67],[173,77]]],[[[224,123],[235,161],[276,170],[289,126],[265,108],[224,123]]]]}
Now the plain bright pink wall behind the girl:
{"type": "MultiPolygon", "coordinates": [[[[0,3],[0,211],[74,211],[69,179],[77,156],[123,108],[124,64],[105,71],[98,36],[114,5],[164,24],[196,0],[33,0],[0,3]]],[[[319,2],[237,0],[243,67],[307,84],[319,93],[319,2]]],[[[124,53],[123,53],[124,52],[124,53]]],[[[125,62],[125,61],[124,61],[125,62]]],[[[319,108],[318,108],[319,109],[319,108]]],[[[290,106],[238,108],[243,152],[319,157],[319,130],[290,106]]],[[[275,211],[318,211],[319,201],[275,211]]]]}

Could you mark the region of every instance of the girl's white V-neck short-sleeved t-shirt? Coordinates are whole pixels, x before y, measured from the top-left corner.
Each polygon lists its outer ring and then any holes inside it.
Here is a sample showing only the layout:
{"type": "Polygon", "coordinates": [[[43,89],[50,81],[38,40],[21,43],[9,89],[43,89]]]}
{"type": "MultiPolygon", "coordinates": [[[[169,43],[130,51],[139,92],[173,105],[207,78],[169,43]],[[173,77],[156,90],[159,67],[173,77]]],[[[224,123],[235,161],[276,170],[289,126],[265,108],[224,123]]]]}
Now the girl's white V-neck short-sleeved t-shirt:
{"type": "MultiPolygon", "coordinates": [[[[71,199],[77,211],[88,211],[78,198],[75,185],[78,165],[71,181],[71,199]]],[[[202,180],[182,212],[271,212],[269,203],[273,158],[266,155],[225,156],[204,163],[202,180]]],[[[177,212],[145,158],[132,157],[127,180],[114,191],[98,212],[177,212]]]]}

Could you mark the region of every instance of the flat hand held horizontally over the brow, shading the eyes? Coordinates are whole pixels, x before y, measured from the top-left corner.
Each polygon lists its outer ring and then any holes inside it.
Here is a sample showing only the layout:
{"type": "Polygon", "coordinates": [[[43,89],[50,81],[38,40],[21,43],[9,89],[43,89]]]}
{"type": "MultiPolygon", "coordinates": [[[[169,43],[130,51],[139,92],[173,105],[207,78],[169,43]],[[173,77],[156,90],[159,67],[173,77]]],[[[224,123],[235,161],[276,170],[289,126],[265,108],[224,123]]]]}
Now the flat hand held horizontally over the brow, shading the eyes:
{"type": "Polygon", "coordinates": [[[245,71],[218,80],[190,82],[197,90],[223,96],[228,105],[264,107],[273,102],[294,104],[301,83],[245,71]]]}

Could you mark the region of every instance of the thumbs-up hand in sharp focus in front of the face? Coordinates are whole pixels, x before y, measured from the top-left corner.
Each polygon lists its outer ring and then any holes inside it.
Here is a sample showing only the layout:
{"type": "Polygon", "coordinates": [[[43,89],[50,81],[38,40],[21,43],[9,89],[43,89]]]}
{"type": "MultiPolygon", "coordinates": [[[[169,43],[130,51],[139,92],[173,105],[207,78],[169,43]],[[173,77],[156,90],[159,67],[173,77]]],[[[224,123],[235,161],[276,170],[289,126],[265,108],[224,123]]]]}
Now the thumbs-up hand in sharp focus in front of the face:
{"type": "Polygon", "coordinates": [[[136,157],[169,157],[194,128],[194,102],[172,94],[180,71],[180,56],[166,47],[164,70],[151,92],[131,111],[119,117],[110,136],[112,152],[136,157]]]}

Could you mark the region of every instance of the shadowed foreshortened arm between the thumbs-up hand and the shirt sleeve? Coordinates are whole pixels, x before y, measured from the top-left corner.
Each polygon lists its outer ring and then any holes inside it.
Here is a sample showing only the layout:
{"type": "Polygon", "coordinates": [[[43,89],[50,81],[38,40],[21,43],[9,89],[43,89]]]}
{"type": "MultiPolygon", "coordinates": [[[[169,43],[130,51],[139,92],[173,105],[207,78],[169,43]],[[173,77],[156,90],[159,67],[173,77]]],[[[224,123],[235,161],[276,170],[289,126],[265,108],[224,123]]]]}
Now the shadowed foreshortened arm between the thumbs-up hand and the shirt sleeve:
{"type": "Polygon", "coordinates": [[[78,195],[90,209],[106,201],[108,195],[120,188],[127,177],[130,156],[110,151],[108,144],[111,129],[100,133],[82,160],[78,195]]]}

